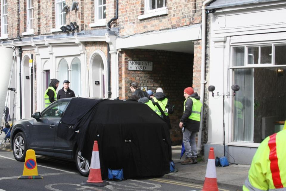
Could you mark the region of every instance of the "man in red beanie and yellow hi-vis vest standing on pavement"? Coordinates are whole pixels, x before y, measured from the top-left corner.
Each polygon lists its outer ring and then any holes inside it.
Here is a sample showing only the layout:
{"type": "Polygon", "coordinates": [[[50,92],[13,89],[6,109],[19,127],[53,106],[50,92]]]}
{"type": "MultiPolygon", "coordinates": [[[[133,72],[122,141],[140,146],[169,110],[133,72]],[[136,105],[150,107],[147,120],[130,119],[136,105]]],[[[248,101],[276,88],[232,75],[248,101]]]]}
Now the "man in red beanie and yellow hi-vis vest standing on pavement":
{"type": "Polygon", "coordinates": [[[181,164],[197,163],[196,134],[200,129],[200,112],[202,103],[198,93],[192,87],[184,89],[184,113],[180,119],[180,128],[183,131],[183,144],[186,149],[186,159],[181,164]],[[191,145],[190,145],[191,143],[191,145]],[[191,147],[192,146],[192,147],[191,147]]]}

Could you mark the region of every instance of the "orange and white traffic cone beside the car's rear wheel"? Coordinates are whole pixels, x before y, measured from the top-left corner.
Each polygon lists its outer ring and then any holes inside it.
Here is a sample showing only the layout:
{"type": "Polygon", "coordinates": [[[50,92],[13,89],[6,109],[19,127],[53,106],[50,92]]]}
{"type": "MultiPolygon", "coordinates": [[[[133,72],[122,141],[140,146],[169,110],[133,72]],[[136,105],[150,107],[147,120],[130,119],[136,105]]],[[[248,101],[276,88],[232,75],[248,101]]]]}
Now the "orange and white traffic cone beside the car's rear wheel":
{"type": "Polygon", "coordinates": [[[108,182],[102,181],[102,178],[101,178],[98,144],[97,144],[97,141],[94,141],[88,180],[83,181],[80,185],[104,187],[108,184],[109,184],[108,182]]]}

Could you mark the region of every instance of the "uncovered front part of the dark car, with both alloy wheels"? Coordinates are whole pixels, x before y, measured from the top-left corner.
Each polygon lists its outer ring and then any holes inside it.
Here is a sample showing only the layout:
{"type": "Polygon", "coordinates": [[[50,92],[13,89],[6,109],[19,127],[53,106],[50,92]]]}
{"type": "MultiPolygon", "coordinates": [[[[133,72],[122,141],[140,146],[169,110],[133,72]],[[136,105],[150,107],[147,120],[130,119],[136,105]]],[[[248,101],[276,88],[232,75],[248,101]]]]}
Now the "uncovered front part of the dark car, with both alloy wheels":
{"type": "Polygon", "coordinates": [[[32,118],[17,121],[11,132],[11,147],[17,161],[24,161],[28,149],[37,155],[75,160],[81,175],[88,176],[89,162],[81,156],[76,141],[60,138],[58,124],[72,98],[60,99],[32,118]]]}

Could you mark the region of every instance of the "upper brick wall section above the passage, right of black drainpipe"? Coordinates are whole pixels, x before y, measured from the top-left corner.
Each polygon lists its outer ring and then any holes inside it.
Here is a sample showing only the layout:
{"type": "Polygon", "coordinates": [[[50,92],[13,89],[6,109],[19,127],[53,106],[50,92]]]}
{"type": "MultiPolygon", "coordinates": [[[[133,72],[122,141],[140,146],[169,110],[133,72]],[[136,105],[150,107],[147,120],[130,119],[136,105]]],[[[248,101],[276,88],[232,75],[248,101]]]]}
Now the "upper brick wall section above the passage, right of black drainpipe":
{"type": "MultiPolygon", "coordinates": [[[[202,1],[167,0],[168,15],[138,20],[144,14],[144,0],[119,1],[118,25],[121,35],[176,28],[200,23],[202,1]]],[[[116,25],[115,25],[116,26],[116,25]]]]}

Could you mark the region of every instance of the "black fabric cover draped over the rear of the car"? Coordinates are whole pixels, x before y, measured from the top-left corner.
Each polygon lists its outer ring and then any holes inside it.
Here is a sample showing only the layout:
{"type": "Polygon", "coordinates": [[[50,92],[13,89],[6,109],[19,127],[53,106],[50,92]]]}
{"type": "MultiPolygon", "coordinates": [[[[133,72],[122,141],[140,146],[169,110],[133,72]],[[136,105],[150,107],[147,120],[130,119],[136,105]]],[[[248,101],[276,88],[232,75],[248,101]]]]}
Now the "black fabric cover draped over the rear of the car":
{"type": "Polygon", "coordinates": [[[61,137],[75,138],[85,158],[91,160],[93,142],[98,141],[103,179],[108,168],[123,168],[124,178],[161,176],[170,170],[168,125],[146,104],[73,98],[61,121],[61,137]],[[80,133],[74,137],[75,130],[80,133]]]}

